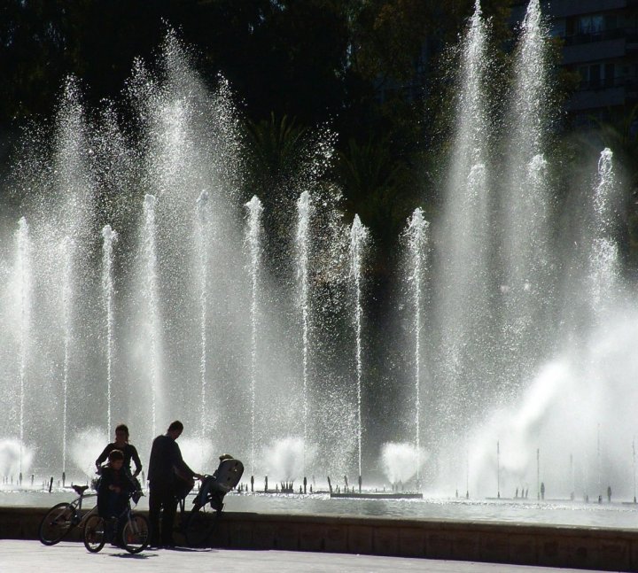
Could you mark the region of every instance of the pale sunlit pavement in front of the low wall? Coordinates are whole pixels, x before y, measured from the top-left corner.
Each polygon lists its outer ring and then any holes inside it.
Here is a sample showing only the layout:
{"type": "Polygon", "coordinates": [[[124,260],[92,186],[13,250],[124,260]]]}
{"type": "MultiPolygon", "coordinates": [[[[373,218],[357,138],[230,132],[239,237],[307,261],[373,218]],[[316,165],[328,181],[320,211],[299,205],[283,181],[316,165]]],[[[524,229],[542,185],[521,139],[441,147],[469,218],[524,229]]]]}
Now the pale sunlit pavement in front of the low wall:
{"type": "MultiPolygon", "coordinates": [[[[576,569],[550,569],[464,561],[434,561],[370,555],[317,554],[291,551],[235,551],[229,549],[160,549],[130,555],[106,546],[99,554],[89,554],[80,543],[62,542],[45,547],[39,541],[0,540],[2,573],[43,573],[82,571],[82,573],[189,573],[190,571],[235,571],[245,573],[557,573],[576,569]]],[[[582,570],[580,571],[582,573],[582,570]]]]}

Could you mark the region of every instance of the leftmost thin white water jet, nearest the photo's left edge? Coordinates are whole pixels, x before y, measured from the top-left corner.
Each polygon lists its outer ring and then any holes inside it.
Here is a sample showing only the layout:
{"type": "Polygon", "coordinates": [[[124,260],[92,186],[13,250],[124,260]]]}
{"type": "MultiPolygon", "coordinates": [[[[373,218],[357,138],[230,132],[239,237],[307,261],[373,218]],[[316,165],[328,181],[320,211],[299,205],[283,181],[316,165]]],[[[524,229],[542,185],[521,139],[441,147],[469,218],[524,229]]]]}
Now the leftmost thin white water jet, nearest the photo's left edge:
{"type": "Polygon", "coordinates": [[[19,475],[21,479],[25,439],[25,380],[31,323],[31,244],[27,220],[24,217],[19,220],[16,233],[16,278],[19,289],[19,475]]]}

